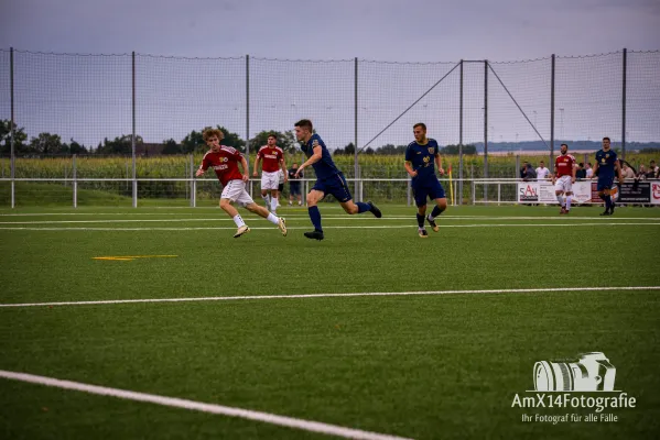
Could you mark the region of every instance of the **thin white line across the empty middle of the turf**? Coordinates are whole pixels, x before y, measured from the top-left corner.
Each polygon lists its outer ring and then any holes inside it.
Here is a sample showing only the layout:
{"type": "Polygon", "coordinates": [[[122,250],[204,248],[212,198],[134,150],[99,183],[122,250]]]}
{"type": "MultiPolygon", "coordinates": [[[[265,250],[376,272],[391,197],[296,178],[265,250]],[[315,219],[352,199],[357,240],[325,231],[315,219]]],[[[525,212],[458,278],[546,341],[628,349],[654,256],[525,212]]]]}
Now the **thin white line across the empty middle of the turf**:
{"type": "Polygon", "coordinates": [[[475,294],[534,294],[548,292],[605,292],[605,290],[660,290],[660,286],[625,286],[625,287],[548,287],[527,289],[488,289],[488,290],[428,290],[428,292],[363,292],[348,294],[304,294],[304,295],[258,295],[258,296],[209,296],[198,298],[149,298],[149,299],[107,299],[99,301],[59,301],[0,304],[0,307],[46,307],[46,306],[95,306],[106,304],[134,302],[187,302],[187,301],[234,301],[258,299],[303,299],[303,298],[340,298],[356,296],[434,296],[434,295],[475,295],[475,294]]]}

